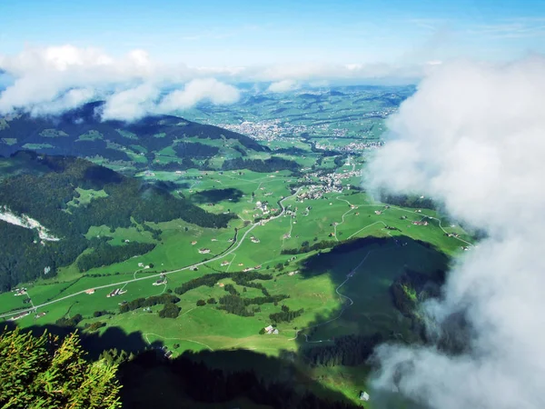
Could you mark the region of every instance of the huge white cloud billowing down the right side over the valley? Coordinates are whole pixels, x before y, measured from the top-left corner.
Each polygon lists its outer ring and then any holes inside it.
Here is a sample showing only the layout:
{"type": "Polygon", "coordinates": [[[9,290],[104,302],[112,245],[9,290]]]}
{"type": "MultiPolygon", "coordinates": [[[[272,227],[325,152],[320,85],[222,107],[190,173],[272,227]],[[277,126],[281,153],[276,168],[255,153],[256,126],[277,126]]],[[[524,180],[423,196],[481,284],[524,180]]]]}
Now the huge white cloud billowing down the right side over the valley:
{"type": "Polygon", "coordinates": [[[463,312],[469,353],[382,345],[379,389],[441,409],[545,407],[545,59],[445,65],[391,117],[366,183],[440,199],[489,238],[452,269],[438,323],[463,312]]]}

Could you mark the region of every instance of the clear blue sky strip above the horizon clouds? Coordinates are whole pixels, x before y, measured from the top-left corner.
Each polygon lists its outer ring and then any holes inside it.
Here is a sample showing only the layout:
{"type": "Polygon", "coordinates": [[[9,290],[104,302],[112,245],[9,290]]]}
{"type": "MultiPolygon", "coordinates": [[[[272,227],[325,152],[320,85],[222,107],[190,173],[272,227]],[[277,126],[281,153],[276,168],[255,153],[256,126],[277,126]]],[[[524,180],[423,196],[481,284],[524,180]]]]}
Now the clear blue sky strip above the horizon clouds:
{"type": "Polygon", "coordinates": [[[545,52],[545,1],[0,1],[0,53],[65,44],[197,66],[510,60],[545,52]]]}

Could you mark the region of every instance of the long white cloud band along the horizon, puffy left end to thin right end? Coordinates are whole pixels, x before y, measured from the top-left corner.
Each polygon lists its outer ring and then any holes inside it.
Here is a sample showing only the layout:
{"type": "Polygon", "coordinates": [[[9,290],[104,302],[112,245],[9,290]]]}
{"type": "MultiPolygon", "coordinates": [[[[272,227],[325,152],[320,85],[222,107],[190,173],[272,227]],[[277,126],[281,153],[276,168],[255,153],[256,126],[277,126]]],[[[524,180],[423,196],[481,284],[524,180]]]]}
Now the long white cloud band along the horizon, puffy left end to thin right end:
{"type": "Polygon", "coordinates": [[[306,64],[253,67],[164,65],[144,50],[112,56],[73,45],[26,47],[0,54],[0,115],[23,110],[55,115],[96,99],[107,101],[104,118],[132,121],[149,113],[169,114],[203,101],[232,104],[233,84],[263,83],[270,92],[302,85],[412,83],[431,65],[306,64]],[[272,83],[272,84],[271,84],[272,83]]]}

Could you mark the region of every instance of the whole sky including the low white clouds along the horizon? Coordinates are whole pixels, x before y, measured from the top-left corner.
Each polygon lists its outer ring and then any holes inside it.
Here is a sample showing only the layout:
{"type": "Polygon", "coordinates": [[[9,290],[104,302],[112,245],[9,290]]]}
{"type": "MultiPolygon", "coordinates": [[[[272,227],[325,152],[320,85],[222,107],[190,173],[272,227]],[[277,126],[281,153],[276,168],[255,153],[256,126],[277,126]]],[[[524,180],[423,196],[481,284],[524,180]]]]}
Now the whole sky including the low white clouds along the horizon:
{"type": "Polygon", "coordinates": [[[242,83],[416,84],[450,61],[544,53],[533,0],[0,0],[0,115],[100,98],[133,121],[232,104],[242,83]]]}

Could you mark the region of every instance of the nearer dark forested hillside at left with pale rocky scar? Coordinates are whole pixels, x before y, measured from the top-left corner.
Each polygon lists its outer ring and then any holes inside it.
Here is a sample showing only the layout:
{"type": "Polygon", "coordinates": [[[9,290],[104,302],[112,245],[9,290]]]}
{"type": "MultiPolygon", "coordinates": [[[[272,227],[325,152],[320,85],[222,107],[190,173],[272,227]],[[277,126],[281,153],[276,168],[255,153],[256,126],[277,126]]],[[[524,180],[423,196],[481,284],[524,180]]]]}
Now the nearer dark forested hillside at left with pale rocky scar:
{"type": "MultiPolygon", "coordinates": [[[[65,156],[19,153],[16,160],[25,160],[27,167],[39,166],[42,175],[22,173],[0,182],[0,205],[13,214],[25,214],[39,221],[59,241],[41,240],[36,230],[0,221],[0,290],[31,280],[49,267],[54,275],[57,266],[74,262],[85,248],[94,247],[100,254],[100,265],[123,261],[134,254],[153,248],[149,245],[126,244],[111,246],[84,238],[91,226],[107,225],[112,229],[129,227],[133,220],[166,222],[181,218],[203,227],[225,227],[234,214],[210,214],[184,198],[155,185],[126,177],[89,161],[65,156]],[[78,205],[77,189],[100,192],[93,200],[78,205]],[[132,246],[132,247],[131,247],[132,246]],[[131,247],[131,248],[129,248],[131,247]],[[137,247],[137,248],[134,248],[137,247]]],[[[86,270],[96,265],[96,256],[89,254],[80,265],[86,270]]]]}

